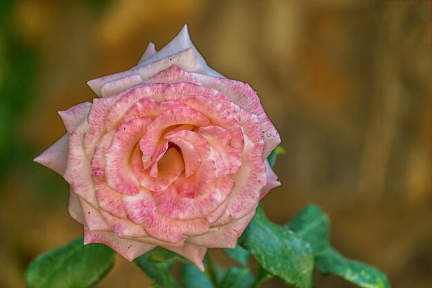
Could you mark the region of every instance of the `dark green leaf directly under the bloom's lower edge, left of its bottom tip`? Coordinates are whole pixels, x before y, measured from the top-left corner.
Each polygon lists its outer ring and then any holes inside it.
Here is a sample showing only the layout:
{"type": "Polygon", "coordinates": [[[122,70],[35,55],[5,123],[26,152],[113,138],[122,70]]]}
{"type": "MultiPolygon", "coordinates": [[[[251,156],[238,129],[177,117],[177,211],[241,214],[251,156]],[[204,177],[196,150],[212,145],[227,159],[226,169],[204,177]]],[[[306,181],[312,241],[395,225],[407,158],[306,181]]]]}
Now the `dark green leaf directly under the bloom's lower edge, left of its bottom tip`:
{"type": "Polygon", "coordinates": [[[155,280],[156,284],[164,288],[179,288],[179,284],[171,274],[170,268],[173,262],[152,262],[148,260],[149,253],[145,253],[135,259],[138,267],[141,268],[148,277],[155,280]]]}

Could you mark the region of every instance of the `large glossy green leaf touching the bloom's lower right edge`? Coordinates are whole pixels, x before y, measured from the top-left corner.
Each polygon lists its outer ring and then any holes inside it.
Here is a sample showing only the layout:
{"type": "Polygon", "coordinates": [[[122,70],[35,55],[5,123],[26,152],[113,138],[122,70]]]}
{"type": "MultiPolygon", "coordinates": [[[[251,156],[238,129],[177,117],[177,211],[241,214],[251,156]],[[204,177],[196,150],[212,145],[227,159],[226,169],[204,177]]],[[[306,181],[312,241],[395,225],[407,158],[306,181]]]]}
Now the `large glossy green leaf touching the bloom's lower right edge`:
{"type": "Polygon", "coordinates": [[[239,240],[268,272],[295,287],[311,287],[313,253],[310,245],[293,231],[268,220],[261,207],[239,240]]]}

